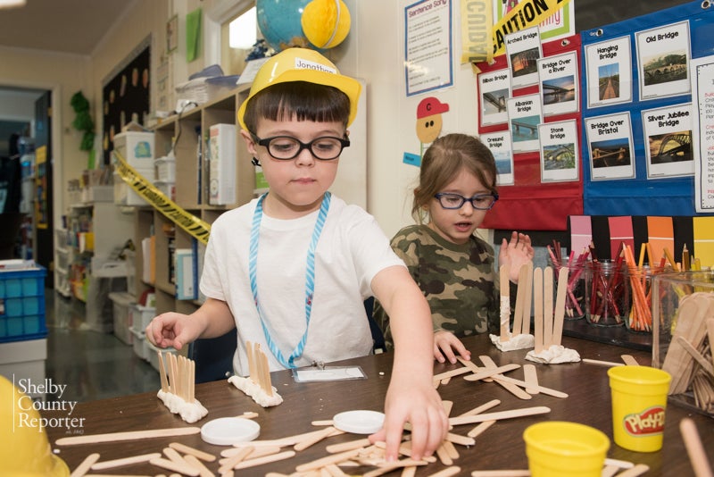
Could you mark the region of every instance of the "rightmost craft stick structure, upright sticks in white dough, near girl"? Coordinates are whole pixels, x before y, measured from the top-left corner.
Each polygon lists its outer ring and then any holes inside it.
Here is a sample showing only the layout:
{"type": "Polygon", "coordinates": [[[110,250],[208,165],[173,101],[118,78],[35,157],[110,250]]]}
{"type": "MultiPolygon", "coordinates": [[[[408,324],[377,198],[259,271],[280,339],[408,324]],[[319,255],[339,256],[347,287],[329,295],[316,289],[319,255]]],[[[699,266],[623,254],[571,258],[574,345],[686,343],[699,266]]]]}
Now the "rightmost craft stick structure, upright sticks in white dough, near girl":
{"type": "Polygon", "coordinates": [[[533,272],[534,294],[534,349],[526,359],[545,364],[573,363],[580,361],[577,351],[560,345],[565,320],[565,299],[568,296],[569,270],[565,267],[558,274],[553,308],[553,271],[536,268],[533,272]]]}

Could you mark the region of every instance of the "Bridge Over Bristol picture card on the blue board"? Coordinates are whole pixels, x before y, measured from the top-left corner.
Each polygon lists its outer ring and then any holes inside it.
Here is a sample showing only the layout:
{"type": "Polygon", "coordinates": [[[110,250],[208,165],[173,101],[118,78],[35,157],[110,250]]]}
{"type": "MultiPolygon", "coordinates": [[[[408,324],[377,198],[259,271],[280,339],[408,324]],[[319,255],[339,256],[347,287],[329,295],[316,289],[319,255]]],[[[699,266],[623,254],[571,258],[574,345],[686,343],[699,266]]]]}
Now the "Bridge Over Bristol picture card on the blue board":
{"type": "Polygon", "coordinates": [[[592,180],[633,179],[635,157],[630,113],[595,116],[584,121],[592,180]]]}

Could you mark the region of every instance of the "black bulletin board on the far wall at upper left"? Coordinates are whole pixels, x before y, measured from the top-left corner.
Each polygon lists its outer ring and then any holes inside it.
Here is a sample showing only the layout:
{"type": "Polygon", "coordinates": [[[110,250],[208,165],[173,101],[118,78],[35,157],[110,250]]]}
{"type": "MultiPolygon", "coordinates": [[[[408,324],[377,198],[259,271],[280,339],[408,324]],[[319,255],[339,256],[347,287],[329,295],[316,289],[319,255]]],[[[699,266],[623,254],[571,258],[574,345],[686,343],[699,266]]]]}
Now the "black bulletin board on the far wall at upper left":
{"type": "Polygon", "coordinates": [[[149,112],[151,37],[142,41],[108,76],[102,89],[104,164],[111,162],[113,139],[130,121],[139,124],[149,112]]]}

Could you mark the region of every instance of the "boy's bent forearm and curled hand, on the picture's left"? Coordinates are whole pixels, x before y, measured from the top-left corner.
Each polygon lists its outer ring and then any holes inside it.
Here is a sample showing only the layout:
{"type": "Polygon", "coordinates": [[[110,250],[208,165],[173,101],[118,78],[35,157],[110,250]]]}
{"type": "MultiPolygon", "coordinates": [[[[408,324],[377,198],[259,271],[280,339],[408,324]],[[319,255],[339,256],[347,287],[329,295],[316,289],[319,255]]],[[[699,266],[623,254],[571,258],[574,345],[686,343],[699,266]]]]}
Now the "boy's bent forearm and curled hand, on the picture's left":
{"type": "Polygon", "coordinates": [[[146,338],[157,347],[175,347],[199,338],[216,338],[236,326],[228,304],[207,298],[192,314],[168,312],[154,316],[146,326],[146,338]]]}

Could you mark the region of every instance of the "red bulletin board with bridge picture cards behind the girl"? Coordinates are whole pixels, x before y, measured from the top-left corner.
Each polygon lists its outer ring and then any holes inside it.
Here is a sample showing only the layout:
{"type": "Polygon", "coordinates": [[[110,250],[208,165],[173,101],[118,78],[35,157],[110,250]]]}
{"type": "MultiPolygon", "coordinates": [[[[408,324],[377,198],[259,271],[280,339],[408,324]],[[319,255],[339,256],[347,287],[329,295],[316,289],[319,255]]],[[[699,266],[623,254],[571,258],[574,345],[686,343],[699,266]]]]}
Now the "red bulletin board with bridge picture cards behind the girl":
{"type": "Polygon", "coordinates": [[[566,230],[583,211],[580,37],[541,43],[525,29],[477,67],[478,133],[494,153],[499,193],[483,227],[566,230]]]}

